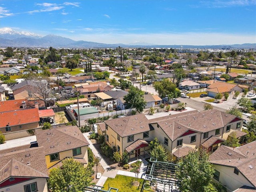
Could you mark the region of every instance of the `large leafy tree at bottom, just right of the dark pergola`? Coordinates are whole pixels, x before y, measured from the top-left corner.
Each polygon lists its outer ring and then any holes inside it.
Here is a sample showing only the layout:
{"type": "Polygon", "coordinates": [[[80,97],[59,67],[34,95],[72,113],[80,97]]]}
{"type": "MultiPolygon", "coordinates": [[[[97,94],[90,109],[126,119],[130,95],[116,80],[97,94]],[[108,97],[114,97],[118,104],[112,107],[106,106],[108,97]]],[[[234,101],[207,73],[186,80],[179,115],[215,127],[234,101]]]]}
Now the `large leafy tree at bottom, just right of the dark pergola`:
{"type": "Polygon", "coordinates": [[[209,154],[200,150],[190,152],[180,160],[176,169],[179,190],[182,192],[217,192],[211,184],[214,168],[209,154]]]}

